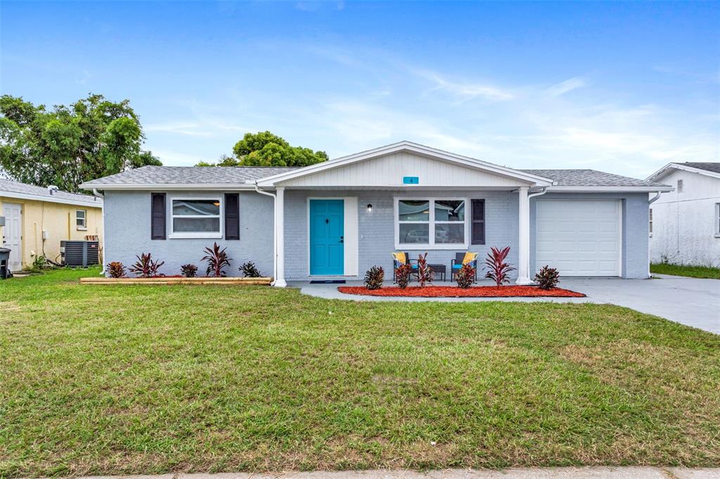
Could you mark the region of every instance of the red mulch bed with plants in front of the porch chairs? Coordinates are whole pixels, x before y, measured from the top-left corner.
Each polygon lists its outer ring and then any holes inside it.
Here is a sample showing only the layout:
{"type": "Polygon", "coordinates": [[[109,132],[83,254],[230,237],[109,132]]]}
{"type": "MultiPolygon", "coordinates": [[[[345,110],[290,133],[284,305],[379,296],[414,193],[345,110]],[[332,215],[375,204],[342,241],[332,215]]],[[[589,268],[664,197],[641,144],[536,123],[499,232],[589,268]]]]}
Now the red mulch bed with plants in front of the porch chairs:
{"type": "Polygon", "coordinates": [[[576,293],[562,288],[540,289],[537,286],[473,286],[462,289],[456,286],[408,286],[400,289],[397,286],[380,289],[366,289],[364,286],[339,286],[338,291],[346,294],[361,294],[364,296],[415,296],[421,298],[508,298],[508,297],[542,297],[552,296],[561,298],[584,298],[582,293],[576,293]]]}

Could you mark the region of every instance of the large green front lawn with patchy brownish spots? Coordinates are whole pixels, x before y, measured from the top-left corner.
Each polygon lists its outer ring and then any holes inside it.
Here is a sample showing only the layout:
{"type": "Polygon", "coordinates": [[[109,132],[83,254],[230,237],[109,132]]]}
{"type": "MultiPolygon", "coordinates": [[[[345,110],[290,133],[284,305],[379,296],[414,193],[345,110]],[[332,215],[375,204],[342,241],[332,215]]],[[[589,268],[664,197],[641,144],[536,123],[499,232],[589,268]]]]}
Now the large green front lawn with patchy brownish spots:
{"type": "Polygon", "coordinates": [[[617,306],[0,281],[0,477],[720,464],[720,336],[617,306]]]}

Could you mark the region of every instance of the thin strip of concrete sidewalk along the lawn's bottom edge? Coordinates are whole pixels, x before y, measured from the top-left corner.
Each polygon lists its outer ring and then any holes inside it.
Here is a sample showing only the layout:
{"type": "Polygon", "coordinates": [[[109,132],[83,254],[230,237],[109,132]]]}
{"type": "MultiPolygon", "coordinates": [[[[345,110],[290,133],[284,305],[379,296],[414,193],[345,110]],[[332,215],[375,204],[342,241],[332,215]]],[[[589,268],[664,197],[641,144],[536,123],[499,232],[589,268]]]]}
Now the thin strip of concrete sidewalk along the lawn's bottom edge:
{"type": "Polygon", "coordinates": [[[311,473],[222,473],[89,476],[84,479],[718,479],[720,468],[685,467],[528,467],[503,470],[448,469],[316,471],[311,473]]]}

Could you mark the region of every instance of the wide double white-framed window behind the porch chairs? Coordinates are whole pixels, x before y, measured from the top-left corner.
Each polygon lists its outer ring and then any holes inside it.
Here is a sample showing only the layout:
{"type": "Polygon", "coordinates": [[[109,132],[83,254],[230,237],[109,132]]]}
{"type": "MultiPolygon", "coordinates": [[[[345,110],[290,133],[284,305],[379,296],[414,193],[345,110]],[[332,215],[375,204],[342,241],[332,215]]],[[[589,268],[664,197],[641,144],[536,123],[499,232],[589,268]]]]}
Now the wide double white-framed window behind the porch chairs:
{"type": "Polygon", "coordinates": [[[396,199],[396,247],[467,247],[466,204],[465,199],[396,199]]]}

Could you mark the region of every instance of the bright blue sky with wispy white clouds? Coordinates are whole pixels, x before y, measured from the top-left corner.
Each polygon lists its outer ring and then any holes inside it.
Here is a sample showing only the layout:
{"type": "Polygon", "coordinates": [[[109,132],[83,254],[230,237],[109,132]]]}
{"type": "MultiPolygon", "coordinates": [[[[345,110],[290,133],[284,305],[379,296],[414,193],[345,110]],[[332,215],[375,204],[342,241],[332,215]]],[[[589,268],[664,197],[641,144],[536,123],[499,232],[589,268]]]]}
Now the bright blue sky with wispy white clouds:
{"type": "Polygon", "coordinates": [[[644,177],[720,158],[719,3],[0,4],[0,90],[130,99],[166,165],[269,129],[644,177]]]}

